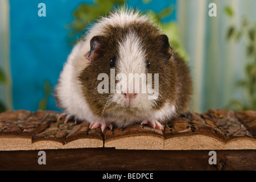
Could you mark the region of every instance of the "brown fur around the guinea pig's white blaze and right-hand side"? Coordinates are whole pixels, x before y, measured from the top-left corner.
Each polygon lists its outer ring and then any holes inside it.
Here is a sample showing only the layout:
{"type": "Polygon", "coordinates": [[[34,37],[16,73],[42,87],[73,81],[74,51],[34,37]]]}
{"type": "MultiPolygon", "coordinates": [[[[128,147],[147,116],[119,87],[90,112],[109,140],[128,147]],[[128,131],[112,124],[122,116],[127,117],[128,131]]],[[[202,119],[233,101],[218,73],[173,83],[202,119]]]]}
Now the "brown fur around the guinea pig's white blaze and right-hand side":
{"type": "MultiPolygon", "coordinates": [[[[150,22],[133,22],[125,27],[106,27],[100,43],[101,54],[90,61],[78,78],[81,81],[86,102],[93,113],[101,116],[111,95],[110,90],[109,94],[97,92],[97,86],[101,82],[101,80],[97,80],[97,76],[100,73],[108,74],[110,89],[109,60],[113,56],[117,56],[118,60],[118,41],[123,40],[130,31],[137,32],[141,38],[142,47],[147,53],[146,59],[150,61],[148,73],[152,73],[152,75],[159,73],[159,100],[154,109],[160,109],[164,103],[170,101],[171,104],[175,104],[178,114],[183,113],[188,109],[189,97],[192,93],[189,69],[184,61],[172,51],[168,39],[166,39],[167,36],[161,35],[158,28],[152,26],[150,22]]],[[[154,77],[152,81],[154,81],[154,77]]],[[[105,113],[111,109],[112,104],[105,108],[105,113]]]]}

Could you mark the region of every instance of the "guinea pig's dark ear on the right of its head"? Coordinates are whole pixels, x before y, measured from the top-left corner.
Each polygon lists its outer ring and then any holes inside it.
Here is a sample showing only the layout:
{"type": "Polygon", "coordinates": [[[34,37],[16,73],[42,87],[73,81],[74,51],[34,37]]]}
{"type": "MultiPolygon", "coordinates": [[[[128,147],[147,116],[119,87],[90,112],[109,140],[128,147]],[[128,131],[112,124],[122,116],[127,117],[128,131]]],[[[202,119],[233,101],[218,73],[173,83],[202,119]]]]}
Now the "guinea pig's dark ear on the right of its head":
{"type": "Polygon", "coordinates": [[[161,52],[163,52],[164,59],[166,59],[167,64],[172,56],[172,48],[169,44],[169,39],[167,35],[159,35],[159,46],[161,48],[161,52]]]}

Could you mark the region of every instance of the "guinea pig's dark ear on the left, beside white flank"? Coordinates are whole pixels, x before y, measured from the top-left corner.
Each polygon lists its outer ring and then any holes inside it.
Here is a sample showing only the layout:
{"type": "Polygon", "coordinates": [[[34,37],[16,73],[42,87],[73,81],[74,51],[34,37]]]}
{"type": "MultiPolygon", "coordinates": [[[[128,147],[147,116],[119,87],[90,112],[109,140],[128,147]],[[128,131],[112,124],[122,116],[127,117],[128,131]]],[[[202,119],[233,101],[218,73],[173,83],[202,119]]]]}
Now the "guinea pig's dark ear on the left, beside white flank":
{"type": "Polygon", "coordinates": [[[97,59],[97,57],[102,53],[102,40],[104,36],[94,36],[90,39],[90,51],[85,53],[85,58],[89,61],[97,59]]]}

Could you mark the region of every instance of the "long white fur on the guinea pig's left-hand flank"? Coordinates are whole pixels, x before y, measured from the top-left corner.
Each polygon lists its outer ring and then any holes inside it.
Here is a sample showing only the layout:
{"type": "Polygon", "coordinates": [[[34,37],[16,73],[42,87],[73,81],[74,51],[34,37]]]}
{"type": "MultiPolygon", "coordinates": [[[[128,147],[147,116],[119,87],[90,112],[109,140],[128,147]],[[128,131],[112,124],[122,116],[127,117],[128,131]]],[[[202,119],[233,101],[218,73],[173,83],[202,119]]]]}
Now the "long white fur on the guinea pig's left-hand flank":
{"type": "Polygon", "coordinates": [[[90,107],[85,101],[82,94],[81,83],[77,80],[79,71],[86,67],[86,60],[80,55],[80,44],[77,44],[71,55],[68,56],[68,61],[65,63],[63,71],[60,74],[59,84],[56,87],[56,92],[60,100],[60,104],[64,106],[65,113],[75,115],[77,119],[82,121],[100,121],[99,117],[93,115],[90,107]],[[82,64],[84,64],[82,66],[82,64]],[[79,67],[79,65],[81,67],[79,67]]]}

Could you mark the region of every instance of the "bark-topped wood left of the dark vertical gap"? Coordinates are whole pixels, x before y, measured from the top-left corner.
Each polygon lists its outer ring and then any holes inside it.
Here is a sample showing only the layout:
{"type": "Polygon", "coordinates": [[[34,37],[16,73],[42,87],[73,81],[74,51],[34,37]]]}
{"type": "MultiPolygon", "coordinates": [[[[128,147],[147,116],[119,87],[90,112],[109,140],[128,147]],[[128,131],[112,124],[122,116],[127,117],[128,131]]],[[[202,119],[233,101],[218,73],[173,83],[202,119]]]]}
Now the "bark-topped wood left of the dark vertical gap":
{"type": "Polygon", "coordinates": [[[57,121],[55,111],[18,110],[0,114],[0,150],[103,147],[100,129],[57,121]]]}

